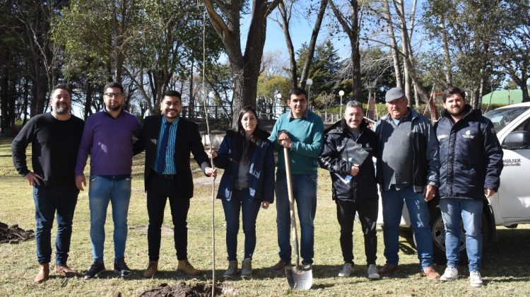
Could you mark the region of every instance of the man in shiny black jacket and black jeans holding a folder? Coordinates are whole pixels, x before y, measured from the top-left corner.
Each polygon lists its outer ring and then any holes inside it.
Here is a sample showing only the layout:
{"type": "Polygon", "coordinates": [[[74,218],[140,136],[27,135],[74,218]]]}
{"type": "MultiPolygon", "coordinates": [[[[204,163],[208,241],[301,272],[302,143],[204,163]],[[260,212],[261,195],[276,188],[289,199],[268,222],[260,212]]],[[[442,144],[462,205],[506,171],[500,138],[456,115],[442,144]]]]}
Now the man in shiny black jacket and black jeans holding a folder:
{"type": "Polygon", "coordinates": [[[349,276],[353,272],[352,232],[357,212],[365,235],[368,278],[379,279],[375,266],[378,195],[372,161],[378,146],[375,132],[367,128],[363,117],[363,105],[358,101],[348,102],[344,119],[324,132],[324,151],[319,156],[319,164],[331,174],[333,199],[341,225],[340,241],[345,264],[338,276],[349,276]]]}

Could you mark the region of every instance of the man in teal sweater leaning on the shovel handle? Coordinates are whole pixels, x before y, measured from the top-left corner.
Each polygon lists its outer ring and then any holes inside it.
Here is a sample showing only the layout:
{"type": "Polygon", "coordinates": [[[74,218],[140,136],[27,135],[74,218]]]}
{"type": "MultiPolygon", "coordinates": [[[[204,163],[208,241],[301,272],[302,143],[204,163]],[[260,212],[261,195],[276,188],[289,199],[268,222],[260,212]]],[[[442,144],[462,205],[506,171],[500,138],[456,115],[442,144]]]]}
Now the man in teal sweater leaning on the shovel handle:
{"type": "Polygon", "coordinates": [[[290,169],[293,195],[300,221],[300,255],[305,268],[311,268],[314,257],[314,214],[317,212],[318,156],[324,142],[322,119],[307,110],[307,94],[302,88],[290,91],[287,101],[290,112],[281,115],[274,124],[271,136],[278,151],[276,166],[276,227],[280,261],[271,267],[283,269],[290,264],[290,213],[283,148],[290,150],[290,169]]]}

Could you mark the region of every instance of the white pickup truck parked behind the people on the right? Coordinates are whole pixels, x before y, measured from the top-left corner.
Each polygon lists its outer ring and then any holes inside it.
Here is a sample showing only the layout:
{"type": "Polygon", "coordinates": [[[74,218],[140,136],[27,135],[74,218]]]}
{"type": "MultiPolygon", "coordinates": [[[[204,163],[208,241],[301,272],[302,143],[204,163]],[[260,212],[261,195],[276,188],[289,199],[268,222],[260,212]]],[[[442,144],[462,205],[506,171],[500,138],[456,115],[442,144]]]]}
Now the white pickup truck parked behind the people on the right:
{"type": "MultiPolygon", "coordinates": [[[[504,151],[499,191],[488,198],[490,205],[485,205],[483,209],[483,242],[487,244],[497,240],[496,226],[516,228],[520,223],[530,223],[530,103],[500,107],[484,116],[493,122],[504,151]]],[[[429,208],[435,262],[445,264],[442,215],[436,202],[430,203],[429,208]]],[[[382,223],[382,207],[379,207],[378,223],[382,223]]],[[[407,228],[411,230],[406,207],[401,227],[404,231],[407,228]]],[[[465,249],[462,229],[461,260],[467,258],[465,249]]]]}

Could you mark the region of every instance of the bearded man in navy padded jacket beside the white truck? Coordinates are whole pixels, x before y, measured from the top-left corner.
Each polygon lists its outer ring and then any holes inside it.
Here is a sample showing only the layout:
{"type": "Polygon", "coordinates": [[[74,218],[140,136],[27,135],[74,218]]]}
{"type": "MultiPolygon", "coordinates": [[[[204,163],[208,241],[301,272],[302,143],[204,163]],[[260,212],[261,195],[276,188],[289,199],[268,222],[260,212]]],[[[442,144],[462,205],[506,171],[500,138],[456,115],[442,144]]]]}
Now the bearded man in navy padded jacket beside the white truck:
{"type": "Polygon", "coordinates": [[[458,278],[460,221],[466,231],[471,286],[482,286],[482,209],[500,185],[502,148],[493,124],[466,104],[457,87],[444,92],[444,112],[435,125],[440,143],[440,209],[445,226],[447,269],[442,281],[458,278]]]}

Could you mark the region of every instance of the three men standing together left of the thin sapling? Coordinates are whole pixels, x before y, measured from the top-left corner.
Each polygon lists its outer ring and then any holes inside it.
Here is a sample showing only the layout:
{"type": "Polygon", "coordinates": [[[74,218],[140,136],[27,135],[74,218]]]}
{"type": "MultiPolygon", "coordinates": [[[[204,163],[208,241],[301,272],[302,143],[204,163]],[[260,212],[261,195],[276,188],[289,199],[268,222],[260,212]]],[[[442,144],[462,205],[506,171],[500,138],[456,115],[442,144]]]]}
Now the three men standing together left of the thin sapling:
{"type": "Polygon", "coordinates": [[[86,187],[83,170],[90,155],[90,243],[93,264],[83,275],[93,279],[105,271],[104,244],[107,207],[112,204],[114,222],[114,271],[132,274],[125,262],[127,214],[131,199],[132,157],[145,154],[147,193],[148,268],[145,276],[158,271],[160,234],[167,200],[170,202],[177,251],[177,270],[189,275],[201,272],[187,260],[187,212],[193,196],[190,153],[208,176],[216,177],[201,143],[199,127],[180,118],[181,96],[167,91],[160,101],[161,115],[146,117],[143,125],[123,110],[124,89],[108,83],[103,93],[105,107],[86,122],[71,115],[71,91],[64,85],[52,90],[52,112],[30,119],[11,144],[13,163],[33,187],[37,261],[40,269],[35,282],[49,278],[52,248],[50,234],[57,212],[55,268],[57,274],[74,276],[66,264],[72,231],[73,213],[80,190],[86,187]],[[28,169],[25,149],[32,145],[33,172],[28,169]]]}

